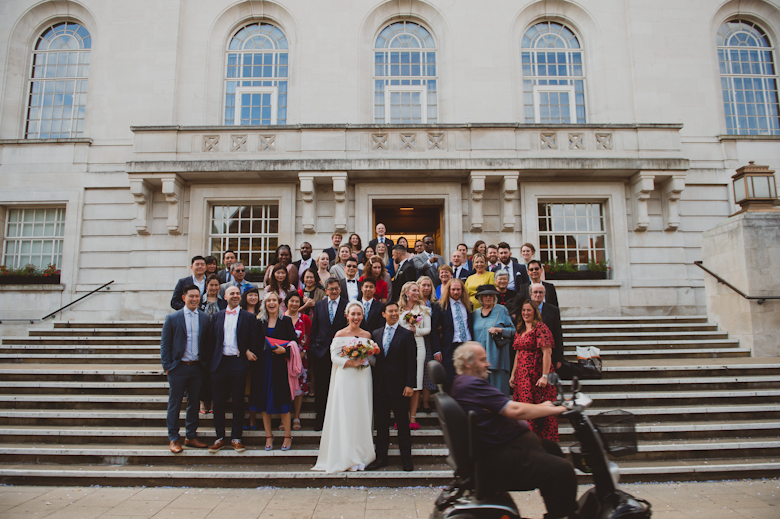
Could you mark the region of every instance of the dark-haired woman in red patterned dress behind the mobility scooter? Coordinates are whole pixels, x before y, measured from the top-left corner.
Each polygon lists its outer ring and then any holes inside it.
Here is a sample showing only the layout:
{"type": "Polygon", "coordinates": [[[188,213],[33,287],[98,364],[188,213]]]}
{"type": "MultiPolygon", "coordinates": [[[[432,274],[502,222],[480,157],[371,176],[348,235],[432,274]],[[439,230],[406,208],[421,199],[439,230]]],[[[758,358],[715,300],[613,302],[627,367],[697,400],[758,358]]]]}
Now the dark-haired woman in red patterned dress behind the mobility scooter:
{"type": "MultiPolygon", "coordinates": [[[[551,360],[552,333],[542,322],[539,308],[531,301],[523,303],[522,319],[517,325],[514,348],[517,358],[509,385],[514,388],[513,398],[517,402],[541,404],[553,402],[557,396],[555,386],[547,383],[547,375],[554,372],[551,360]]],[[[543,440],[558,441],[558,419],[554,416],[529,420],[531,430],[543,440]]]]}

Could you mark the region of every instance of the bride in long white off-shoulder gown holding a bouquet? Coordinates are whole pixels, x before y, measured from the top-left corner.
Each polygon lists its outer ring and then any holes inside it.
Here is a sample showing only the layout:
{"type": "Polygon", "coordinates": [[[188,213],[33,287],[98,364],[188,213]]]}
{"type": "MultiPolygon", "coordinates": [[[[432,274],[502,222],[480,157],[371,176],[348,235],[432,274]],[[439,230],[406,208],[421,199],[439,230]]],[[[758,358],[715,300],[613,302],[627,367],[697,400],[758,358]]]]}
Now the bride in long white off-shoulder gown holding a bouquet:
{"type": "Polygon", "coordinates": [[[355,337],[371,339],[371,334],[360,328],[363,306],[353,301],[347,305],[348,326],[336,332],[330,345],[333,369],[330,391],[322,429],[317,464],[312,470],[340,472],[363,470],[374,461],[374,414],[371,368],[360,369],[364,361],[347,360],[341,350],[355,337]]]}

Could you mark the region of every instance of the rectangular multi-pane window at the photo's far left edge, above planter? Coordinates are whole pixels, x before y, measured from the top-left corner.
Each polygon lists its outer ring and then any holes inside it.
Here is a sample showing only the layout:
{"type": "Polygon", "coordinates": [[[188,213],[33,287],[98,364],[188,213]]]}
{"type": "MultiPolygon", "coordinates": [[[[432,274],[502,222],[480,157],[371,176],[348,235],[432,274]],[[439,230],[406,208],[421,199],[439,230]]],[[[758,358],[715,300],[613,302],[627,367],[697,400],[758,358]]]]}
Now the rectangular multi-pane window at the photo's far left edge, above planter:
{"type": "Polygon", "coordinates": [[[22,268],[62,266],[65,209],[9,209],[6,215],[3,265],[22,268]]]}

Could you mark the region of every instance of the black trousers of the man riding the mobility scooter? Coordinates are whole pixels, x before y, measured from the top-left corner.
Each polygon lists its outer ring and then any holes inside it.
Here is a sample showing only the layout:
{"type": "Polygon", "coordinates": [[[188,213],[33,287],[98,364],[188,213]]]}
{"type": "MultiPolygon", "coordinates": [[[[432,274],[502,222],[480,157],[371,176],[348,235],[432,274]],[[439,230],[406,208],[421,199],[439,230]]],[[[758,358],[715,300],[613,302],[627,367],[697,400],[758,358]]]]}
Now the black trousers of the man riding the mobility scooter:
{"type": "Polygon", "coordinates": [[[568,517],[577,510],[577,476],[558,444],[528,431],[499,448],[483,451],[479,467],[482,488],[524,491],[536,488],[547,507],[546,519],[568,517]]]}

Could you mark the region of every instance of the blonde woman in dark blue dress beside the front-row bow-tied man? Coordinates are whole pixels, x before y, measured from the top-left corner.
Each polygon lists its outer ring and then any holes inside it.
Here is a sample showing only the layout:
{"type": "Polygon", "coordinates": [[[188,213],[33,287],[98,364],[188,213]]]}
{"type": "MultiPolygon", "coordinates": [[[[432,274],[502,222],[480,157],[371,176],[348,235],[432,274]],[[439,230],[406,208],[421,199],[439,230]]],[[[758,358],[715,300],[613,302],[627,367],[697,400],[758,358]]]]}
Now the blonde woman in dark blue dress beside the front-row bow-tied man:
{"type": "MultiPolygon", "coordinates": [[[[280,314],[279,296],[269,292],[260,307],[260,337],[272,337],[285,341],[296,341],[295,326],[292,320],[280,314]]],[[[260,349],[260,348],[258,348],[260,349]]],[[[257,363],[252,370],[252,385],[249,392],[249,410],[263,413],[263,428],[265,429],[265,450],[274,448],[274,436],[271,429],[271,415],[282,416],[285,437],[282,450],[290,450],[292,435],[290,427],[290,411],[292,411],[292,393],[287,375],[287,359],[290,358],[290,348],[278,347],[269,349],[262,345],[257,363]]]]}

